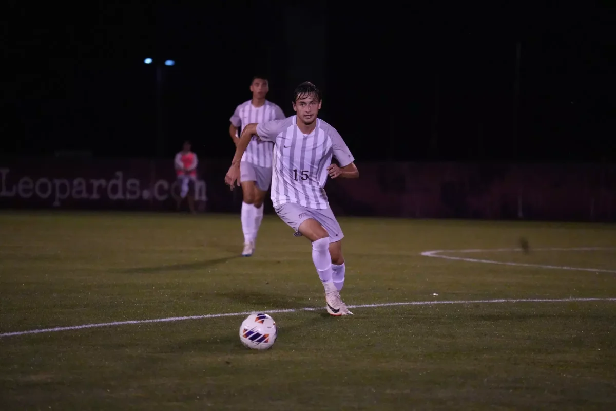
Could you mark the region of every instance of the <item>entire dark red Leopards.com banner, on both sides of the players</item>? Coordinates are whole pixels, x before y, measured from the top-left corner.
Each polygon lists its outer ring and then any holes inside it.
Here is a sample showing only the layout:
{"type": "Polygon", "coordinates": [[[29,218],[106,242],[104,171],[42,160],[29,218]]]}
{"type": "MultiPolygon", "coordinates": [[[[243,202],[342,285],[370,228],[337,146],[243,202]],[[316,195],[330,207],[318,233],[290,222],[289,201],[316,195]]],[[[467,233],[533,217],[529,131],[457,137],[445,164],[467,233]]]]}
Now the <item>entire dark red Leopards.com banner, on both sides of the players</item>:
{"type": "MultiPolygon", "coordinates": [[[[200,211],[238,211],[228,161],[201,161],[200,211]]],[[[616,166],[359,164],[359,180],[326,187],[339,214],[406,218],[616,221],[616,166]]],[[[2,208],[175,210],[171,161],[0,161],[2,208]]],[[[271,205],[267,206],[271,211],[271,205]]]]}

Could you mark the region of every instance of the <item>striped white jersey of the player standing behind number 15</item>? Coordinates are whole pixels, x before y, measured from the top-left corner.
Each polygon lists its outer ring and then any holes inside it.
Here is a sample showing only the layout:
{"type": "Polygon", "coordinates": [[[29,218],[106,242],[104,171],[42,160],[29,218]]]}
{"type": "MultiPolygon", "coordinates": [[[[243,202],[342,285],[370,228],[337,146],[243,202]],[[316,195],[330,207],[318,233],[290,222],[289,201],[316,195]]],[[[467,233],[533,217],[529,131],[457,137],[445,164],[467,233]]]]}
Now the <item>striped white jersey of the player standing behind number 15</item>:
{"type": "MultiPolygon", "coordinates": [[[[243,129],[251,123],[266,123],[272,120],[283,120],[285,113],[278,105],[265,100],[261,107],[254,107],[252,100],[248,100],[238,105],[230,118],[231,124],[238,130],[243,129]]],[[[241,134],[240,134],[241,135],[241,134]]],[[[272,167],[272,150],[274,145],[271,142],[258,141],[256,137],[248,144],[246,152],[241,157],[241,161],[248,161],[259,167],[272,167]]]]}

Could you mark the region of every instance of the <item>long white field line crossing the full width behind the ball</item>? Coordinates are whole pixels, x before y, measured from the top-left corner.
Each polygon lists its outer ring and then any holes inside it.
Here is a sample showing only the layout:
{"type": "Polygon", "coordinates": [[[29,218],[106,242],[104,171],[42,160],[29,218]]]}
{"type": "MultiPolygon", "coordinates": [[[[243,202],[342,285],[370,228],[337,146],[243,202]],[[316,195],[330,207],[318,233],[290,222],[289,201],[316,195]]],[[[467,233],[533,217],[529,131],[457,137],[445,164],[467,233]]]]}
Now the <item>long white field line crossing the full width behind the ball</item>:
{"type": "MultiPolygon", "coordinates": [[[[514,298],[514,299],[475,299],[475,300],[460,300],[460,301],[406,301],[403,303],[379,303],[379,304],[359,304],[354,306],[348,306],[349,308],[375,308],[375,307],[393,307],[393,306],[429,306],[436,304],[479,304],[479,303],[571,303],[571,302],[583,302],[583,301],[616,301],[616,298],[514,298]]],[[[317,311],[322,308],[304,307],[298,309],[279,309],[279,310],[264,310],[260,312],[267,312],[269,314],[276,314],[281,312],[300,312],[300,311],[317,311]]],[[[239,317],[240,315],[249,315],[257,311],[243,311],[243,312],[227,312],[223,314],[206,314],[206,315],[190,315],[188,317],[169,317],[159,318],[152,320],[128,320],[128,321],[115,321],[115,322],[102,322],[98,324],[82,324],[71,325],[70,327],[55,327],[55,328],[40,328],[38,330],[26,330],[9,333],[1,333],[0,337],[9,337],[26,334],[39,334],[39,333],[52,333],[60,331],[71,330],[84,330],[86,328],[100,328],[100,327],[115,327],[116,325],[129,325],[129,324],[149,324],[153,322],[176,322],[184,320],[201,320],[208,318],[219,317],[239,317]]]]}

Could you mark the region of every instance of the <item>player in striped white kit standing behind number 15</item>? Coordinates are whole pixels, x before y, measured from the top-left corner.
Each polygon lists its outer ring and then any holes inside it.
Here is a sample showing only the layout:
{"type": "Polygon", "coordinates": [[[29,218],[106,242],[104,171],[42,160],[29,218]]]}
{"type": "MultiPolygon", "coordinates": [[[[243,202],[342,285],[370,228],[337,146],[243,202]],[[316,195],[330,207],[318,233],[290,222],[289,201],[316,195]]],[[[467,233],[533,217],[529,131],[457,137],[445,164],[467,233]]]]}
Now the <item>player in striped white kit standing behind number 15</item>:
{"type": "MultiPolygon", "coordinates": [[[[262,76],[254,76],[250,84],[253,98],[235,108],[230,118],[229,135],[237,147],[238,130],[250,123],[265,123],[270,120],[282,120],[285,113],[278,105],[265,100],[269,92],[269,82],[262,76]]],[[[244,233],[244,250],[241,255],[249,257],[254,252],[254,243],[263,220],[263,201],[272,181],[271,142],[252,139],[240,162],[240,181],[243,192],[241,203],[241,229],[244,233]]]]}

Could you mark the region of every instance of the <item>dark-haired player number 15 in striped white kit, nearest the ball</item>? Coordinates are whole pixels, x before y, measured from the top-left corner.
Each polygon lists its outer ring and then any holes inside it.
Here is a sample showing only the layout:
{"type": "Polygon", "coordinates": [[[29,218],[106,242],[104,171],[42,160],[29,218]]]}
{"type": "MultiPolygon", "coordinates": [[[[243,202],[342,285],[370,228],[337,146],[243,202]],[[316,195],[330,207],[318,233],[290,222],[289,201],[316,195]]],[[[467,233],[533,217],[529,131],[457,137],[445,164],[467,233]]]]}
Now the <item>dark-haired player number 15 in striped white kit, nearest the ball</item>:
{"type": "Polygon", "coordinates": [[[294,92],[296,115],[285,120],[248,124],[241,132],[225,182],[233,189],[240,176],[240,160],[253,136],[274,142],[274,209],[296,235],[303,235],[312,243],[312,261],[325,288],[327,312],[335,316],[349,315],[352,312],[340,297],[345,271],[344,235],[323,187],[328,175],[357,178],[359,171],[338,131],[317,118],[321,103],[317,87],[305,82],[294,92]],[[331,164],[332,157],[339,165],[331,164]]]}

